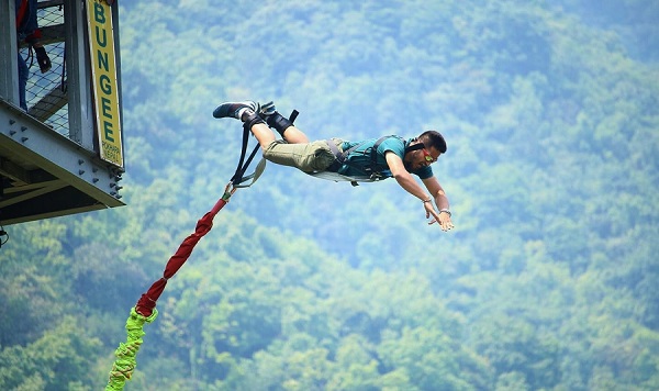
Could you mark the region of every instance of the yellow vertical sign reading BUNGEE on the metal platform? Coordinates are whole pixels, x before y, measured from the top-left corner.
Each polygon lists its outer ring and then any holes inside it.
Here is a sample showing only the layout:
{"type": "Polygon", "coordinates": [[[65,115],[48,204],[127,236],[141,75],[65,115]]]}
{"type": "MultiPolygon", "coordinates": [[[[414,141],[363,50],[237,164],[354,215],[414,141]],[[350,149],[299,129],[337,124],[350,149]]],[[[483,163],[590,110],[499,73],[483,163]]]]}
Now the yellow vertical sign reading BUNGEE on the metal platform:
{"type": "Polygon", "coordinates": [[[87,0],[87,25],[101,159],[123,168],[119,80],[114,56],[112,9],[108,0],[87,0]]]}

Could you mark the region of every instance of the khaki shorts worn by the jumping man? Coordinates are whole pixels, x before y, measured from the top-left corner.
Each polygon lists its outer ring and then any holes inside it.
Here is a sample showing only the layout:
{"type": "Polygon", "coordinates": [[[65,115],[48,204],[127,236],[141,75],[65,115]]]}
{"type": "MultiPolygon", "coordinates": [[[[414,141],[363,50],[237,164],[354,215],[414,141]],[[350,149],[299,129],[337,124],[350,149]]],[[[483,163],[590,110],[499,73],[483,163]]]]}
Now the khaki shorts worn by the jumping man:
{"type": "MultiPolygon", "coordinates": [[[[338,138],[332,141],[340,150],[343,141],[338,138]]],[[[324,171],[336,159],[325,141],[289,144],[283,139],[276,139],[264,150],[264,157],[266,160],[295,167],[304,172],[324,171]]]]}

